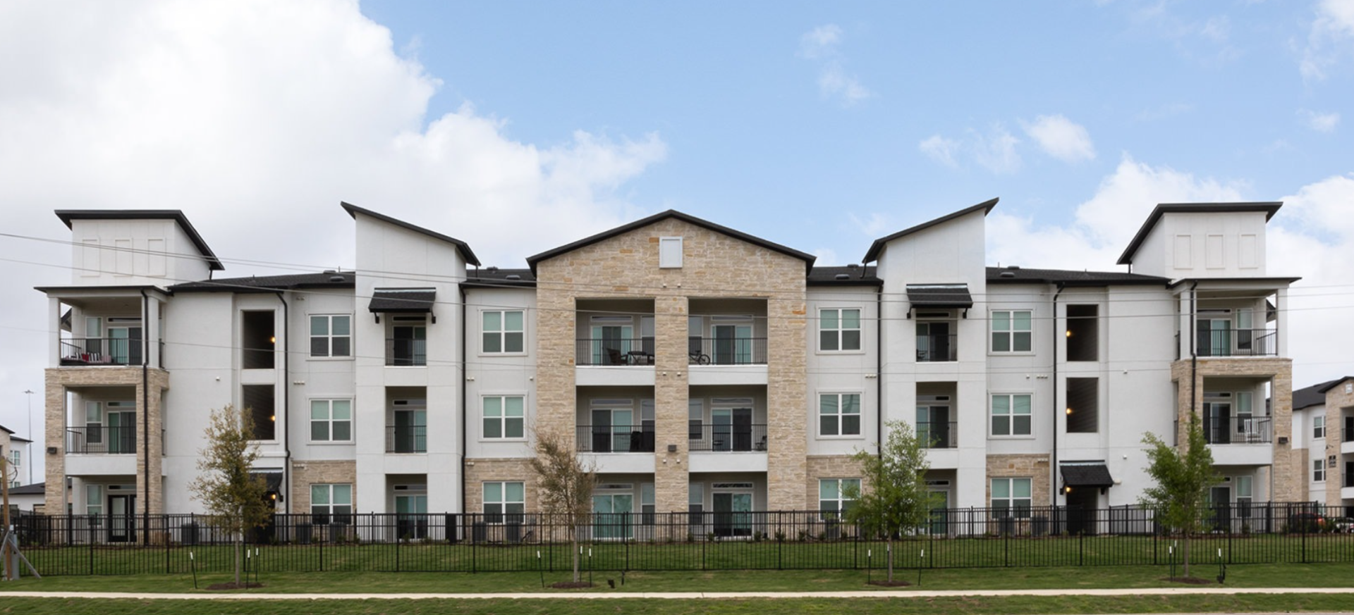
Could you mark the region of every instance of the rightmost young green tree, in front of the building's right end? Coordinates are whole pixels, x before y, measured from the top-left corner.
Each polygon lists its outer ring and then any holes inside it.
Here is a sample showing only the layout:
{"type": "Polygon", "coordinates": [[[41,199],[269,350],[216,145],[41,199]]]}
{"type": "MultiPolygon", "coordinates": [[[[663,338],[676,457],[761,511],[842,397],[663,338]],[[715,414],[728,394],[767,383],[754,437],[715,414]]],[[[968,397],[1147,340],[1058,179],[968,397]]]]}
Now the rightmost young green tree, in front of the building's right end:
{"type": "Polygon", "coordinates": [[[1204,439],[1198,416],[1190,415],[1185,446],[1166,443],[1156,434],[1143,434],[1147,449],[1147,473],[1156,487],[1143,489],[1139,503],[1156,511],[1156,520],[1169,531],[1185,537],[1185,577],[1189,577],[1189,539],[1202,528],[1208,507],[1208,489],[1220,478],[1213,472],[1213,453],[1204,439]]]}

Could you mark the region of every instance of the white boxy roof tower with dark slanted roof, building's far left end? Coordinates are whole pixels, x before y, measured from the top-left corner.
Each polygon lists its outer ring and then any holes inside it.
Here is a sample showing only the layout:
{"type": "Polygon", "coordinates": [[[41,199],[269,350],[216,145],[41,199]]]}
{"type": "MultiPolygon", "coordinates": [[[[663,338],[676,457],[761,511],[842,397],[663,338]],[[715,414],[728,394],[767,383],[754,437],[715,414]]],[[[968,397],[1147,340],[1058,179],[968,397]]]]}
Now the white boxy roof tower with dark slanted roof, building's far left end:
{"type": "Polygon", "coordinates": [[[168,287],[225,269],[179,210],[58,210],[77,287],[168,287]]]}

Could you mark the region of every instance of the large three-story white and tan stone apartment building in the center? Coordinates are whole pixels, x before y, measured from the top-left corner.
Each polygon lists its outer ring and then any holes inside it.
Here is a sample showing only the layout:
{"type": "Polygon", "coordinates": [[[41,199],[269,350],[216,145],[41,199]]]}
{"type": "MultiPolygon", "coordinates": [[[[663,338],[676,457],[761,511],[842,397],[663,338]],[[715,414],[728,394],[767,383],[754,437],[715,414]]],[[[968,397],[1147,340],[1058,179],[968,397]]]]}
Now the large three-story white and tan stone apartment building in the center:
{"type": "Polygon", "coordinates": [[[343,204],[356,272],[244,278],[177,211],[58,211],[47,484],[74,512],[199,510],[202,426],[236,404],[279,511],[535,510],[533,430],[597,465],[598,512],[838,511],[850,454],[906,420],[949,507],[1024,515],[1136,503],[1143,433],[1194,412],[1215,501],[1303,496],[1278,203],[1158,205],[1112,273],[986,266],[995,204],[862,265],[668,211],[525,269],[343,204]]]}

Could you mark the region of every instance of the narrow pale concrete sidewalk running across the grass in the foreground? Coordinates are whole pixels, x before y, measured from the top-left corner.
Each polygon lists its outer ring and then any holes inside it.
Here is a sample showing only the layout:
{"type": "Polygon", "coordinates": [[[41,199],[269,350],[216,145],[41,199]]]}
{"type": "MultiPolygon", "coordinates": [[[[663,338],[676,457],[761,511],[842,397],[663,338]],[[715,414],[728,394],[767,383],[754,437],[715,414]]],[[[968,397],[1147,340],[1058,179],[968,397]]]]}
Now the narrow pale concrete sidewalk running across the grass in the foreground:
{"type": "MultiPolygon", "coordinates": [[[[527,593],[125,593],[125,592],[0,592],[3,597],[92,597],[131,600],[475,600],[475,599],[665,599],[703,600],[739,597],[946,597],[946,596],[1185,596],[1231,593],[1349,593],[1354,588],[1233,588],[1179,587],[1135,589],[881,589],[858,592],[527,592],[527,593]]],[[[1354,601],[1351,601],[1354,604],[1354,601]]]]}

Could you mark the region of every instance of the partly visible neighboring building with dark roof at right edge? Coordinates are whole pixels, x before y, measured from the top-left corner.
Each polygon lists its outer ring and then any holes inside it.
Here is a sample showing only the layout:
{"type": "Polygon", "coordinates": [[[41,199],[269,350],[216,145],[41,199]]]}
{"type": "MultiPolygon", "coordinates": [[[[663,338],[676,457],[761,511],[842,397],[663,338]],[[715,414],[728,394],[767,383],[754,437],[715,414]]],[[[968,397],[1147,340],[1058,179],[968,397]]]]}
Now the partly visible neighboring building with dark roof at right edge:
{"type": "Polygon", "coordinates": [[[1354,376],[1293,391],[1303,499],[1354,514],[1354,376]]]}

